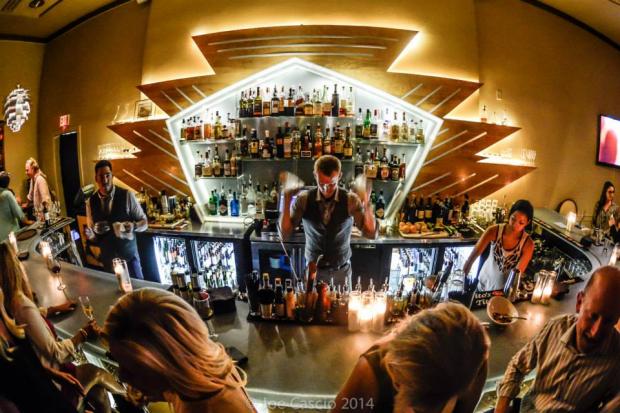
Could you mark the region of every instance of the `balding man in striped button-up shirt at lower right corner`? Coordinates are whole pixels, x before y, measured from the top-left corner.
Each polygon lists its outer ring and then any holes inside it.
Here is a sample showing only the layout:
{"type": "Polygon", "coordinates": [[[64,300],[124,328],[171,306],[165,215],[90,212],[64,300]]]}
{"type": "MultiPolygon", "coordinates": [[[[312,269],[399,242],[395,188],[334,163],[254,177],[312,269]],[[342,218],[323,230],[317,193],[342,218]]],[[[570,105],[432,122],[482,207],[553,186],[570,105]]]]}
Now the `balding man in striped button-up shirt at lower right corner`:
{"type": "Polygon", "coordinates": [[[563,315],[510,360],[496,413],[510,411],[524,377],[537,369],[521,412],[593,412],[620,394],[620,269],[597,269],[577,295],[578,315],[563,315]]]}

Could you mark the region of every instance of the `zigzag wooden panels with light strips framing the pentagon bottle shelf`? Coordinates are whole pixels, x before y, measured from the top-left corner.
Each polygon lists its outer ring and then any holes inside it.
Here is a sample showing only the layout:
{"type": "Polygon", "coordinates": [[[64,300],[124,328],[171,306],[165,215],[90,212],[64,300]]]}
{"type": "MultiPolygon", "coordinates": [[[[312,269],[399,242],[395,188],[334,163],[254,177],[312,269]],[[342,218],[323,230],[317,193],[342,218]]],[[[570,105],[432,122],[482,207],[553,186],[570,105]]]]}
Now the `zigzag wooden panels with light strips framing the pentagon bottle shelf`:
{"type": "MultiPolygon", "coordinates": [[[[384,90],[444,118],[413,187],[430,195],[487,196],[531,172],[531,166],[479,163],[479,152],[519,128],[446,119],[481,83],[388,72],[417,32],[363,26],[280,26],[194,36],[214,74],[145,84],[138,89],[172,116],[210,94],[291,57],[299,57],[384,90]]],[[[164,120],[110,125],[139,147],[138,159],[116,160],[117,176],[138,189],[190,194],[164,120]]]]}

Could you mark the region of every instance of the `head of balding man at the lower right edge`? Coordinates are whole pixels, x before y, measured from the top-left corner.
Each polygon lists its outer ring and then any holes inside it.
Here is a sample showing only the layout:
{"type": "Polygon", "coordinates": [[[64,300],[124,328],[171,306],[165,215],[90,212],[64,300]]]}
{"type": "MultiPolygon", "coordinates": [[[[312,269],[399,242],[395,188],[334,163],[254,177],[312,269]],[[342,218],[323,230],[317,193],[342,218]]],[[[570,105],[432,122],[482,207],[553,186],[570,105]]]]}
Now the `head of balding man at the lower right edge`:
{"type": "Polygon", "coordinates": [[[611,334],[620,319],[620,269],[601,267],[592,274],[588,284],[577,295],[575,341],[582,353],[596,351],[611,334]]]}

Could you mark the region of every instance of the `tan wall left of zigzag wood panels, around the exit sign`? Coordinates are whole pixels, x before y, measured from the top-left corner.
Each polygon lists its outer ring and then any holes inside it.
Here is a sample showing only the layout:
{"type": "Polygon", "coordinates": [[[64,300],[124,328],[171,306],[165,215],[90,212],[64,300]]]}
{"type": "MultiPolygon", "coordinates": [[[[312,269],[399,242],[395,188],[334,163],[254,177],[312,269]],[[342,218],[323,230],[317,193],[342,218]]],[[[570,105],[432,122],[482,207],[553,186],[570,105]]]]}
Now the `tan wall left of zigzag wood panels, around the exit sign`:
{"type": "Polygon", "coordinates": [[[142,51],[148,5],[130,2],[110,10],[46,46],[41,78],[39,148],[41,163],[54,170],[52,142],[58,116],[71,114],[81,133],[83,184],[94,182],[97,145],[124,142],[107,129],[121,105],[133,116],[140,98],[142,51]]]}

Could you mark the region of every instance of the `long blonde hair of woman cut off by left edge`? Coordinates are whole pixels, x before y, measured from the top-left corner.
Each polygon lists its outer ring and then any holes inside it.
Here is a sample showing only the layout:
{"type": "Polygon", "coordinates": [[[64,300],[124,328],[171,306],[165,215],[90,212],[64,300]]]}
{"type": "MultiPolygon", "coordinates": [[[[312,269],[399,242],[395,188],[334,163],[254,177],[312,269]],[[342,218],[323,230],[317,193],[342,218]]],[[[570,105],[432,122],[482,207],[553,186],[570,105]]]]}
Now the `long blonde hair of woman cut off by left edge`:
{"type": "Polygon", "coordinates": [[[14,317],[14,303],[19,293],[34,301],[28,277],[17,253],[8,241],[0,242],[0,288],[4,292],[4,308],[14,317]]]}

